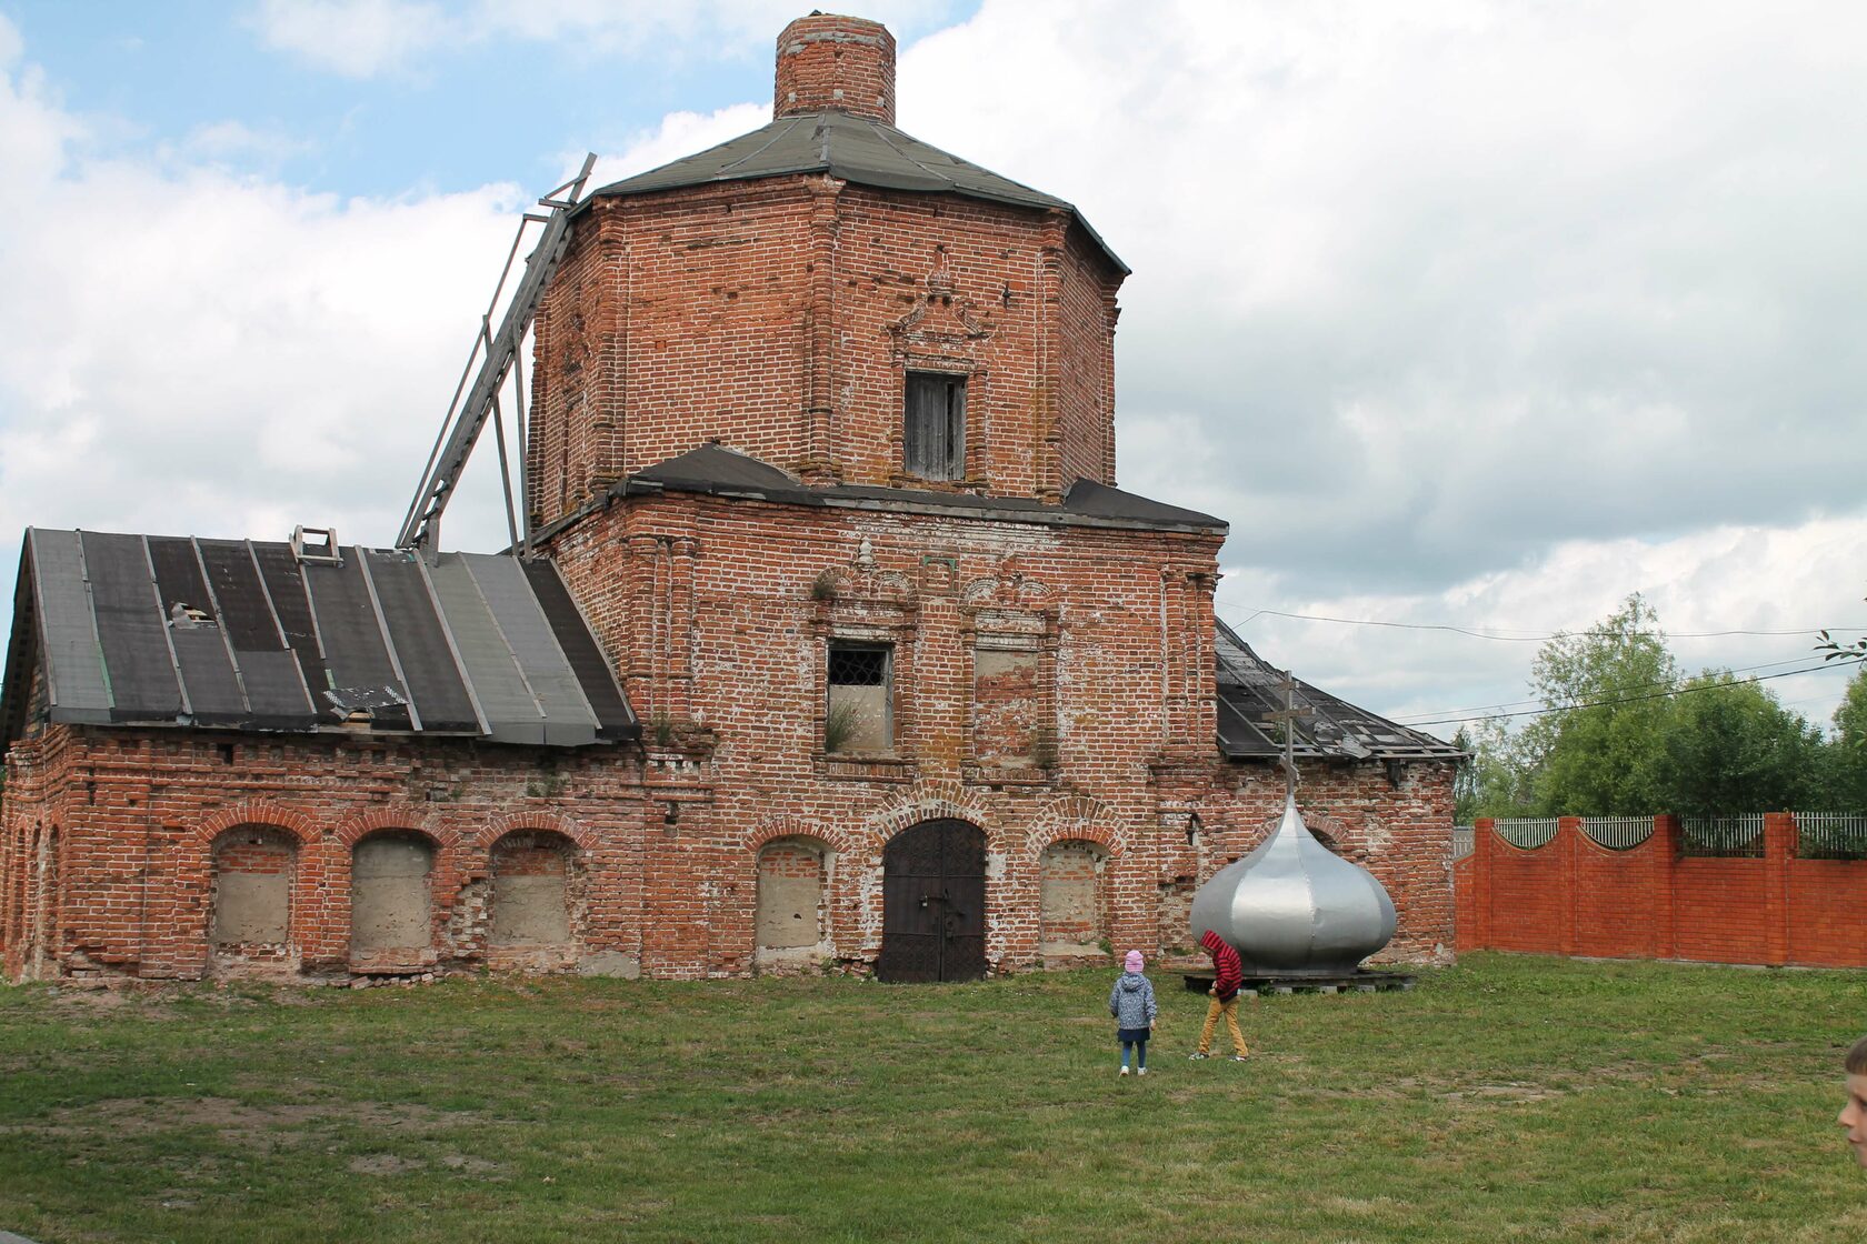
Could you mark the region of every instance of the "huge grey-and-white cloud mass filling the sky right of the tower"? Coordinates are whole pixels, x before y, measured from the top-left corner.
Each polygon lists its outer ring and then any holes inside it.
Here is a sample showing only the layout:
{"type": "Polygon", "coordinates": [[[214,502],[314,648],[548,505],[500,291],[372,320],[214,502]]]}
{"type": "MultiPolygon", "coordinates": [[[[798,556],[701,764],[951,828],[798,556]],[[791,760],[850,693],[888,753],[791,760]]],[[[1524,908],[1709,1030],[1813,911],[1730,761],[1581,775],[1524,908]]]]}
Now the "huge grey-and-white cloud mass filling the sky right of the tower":
{"type": "MultiPolygon", "coordinates": [[[[1120,481],[1232,520],[1234,617],[1860,625],[1863,48],[1832,4],[988,0],[898,95],[1133,265],[1120,481]]],[[[1535,649],[1253,632],[1393,711],[1535,649]]]]}

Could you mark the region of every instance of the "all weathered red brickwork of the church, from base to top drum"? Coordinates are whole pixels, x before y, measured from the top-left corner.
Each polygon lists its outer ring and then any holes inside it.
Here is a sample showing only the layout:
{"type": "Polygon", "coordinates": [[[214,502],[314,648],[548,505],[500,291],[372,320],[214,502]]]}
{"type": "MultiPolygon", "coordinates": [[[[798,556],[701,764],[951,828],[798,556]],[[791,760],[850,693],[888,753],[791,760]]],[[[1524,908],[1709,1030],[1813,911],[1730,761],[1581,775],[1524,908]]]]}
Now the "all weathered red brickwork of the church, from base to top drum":
{"type": "MultiPolygon", "coordinates": [[[[779,112],[892,119],[892,56],[793,22],[779,112]]],[[[1283,778],[1214,744],[1223,528],[1059,505],[1115,483],[1120,280],[1062,209],[821,175],[594,200],[536,325],[526,502],[642,740],[35,727],[7,977],[868,972],[885,847],[937,819],[986,836],[991,970],[1182,947],[1283,778]],[[962,479],[905,472],[919,371],[965,379],[962,479]],[[919,500],[612,489],[708,442],[919,500]],[[885,660],[853,735],[833,645],[885,660]]],[[[1393,893],[1389,955],[1445,959],[1449,765],[1313,765],[1299,796],[1393,893]]]]}

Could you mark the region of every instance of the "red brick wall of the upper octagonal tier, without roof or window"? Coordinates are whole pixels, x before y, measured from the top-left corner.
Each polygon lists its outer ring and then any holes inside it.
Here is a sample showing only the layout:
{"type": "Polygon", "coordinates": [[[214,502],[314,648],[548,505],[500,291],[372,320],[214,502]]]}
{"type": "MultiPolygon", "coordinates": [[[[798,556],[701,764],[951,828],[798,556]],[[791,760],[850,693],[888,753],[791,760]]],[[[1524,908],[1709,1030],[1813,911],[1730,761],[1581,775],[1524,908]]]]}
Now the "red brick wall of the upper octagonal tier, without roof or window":
{"type": "Polygon", "coordinates": [[[909,369],[967,379],[967,487],[1113,483],[1120,274],[1066,213],[769,177],[597,200],[538,315],[540,522],[708,440],[902,476],[909,369]]]}

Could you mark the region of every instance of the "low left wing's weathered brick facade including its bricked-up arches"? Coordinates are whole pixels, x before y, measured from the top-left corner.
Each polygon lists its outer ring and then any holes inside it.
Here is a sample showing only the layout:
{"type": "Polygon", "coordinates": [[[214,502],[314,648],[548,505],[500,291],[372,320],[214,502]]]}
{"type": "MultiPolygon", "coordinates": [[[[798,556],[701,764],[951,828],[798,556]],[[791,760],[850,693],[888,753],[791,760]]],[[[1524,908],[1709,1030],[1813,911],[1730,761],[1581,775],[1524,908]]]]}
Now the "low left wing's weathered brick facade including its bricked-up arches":
{"type": "Polygon", "coordinates": [[[6,972],[330,979],[577,964],[633,974],[650,815],[659,822],[640,755],[612,750],[54,726],[7,755],[6,972]],[[364,938],[358,947],[358,849],[366,858],[385,839],[431,852],[418,946],[370,949],[364,938]],[[21,867],[41,850],[47,867],[21,867]],[[554,867],[569,936],[540,955],[536,931],[551,918],[510,882],[554,867]],[[584,895],[584,873],[605,878],[599,893],[584,895]],[[269,875],[288,880],[282,938],[269,933],[274,890],[252,884],[269,875]],[[517,908],[508,919],[500,899],[517,908]]]}

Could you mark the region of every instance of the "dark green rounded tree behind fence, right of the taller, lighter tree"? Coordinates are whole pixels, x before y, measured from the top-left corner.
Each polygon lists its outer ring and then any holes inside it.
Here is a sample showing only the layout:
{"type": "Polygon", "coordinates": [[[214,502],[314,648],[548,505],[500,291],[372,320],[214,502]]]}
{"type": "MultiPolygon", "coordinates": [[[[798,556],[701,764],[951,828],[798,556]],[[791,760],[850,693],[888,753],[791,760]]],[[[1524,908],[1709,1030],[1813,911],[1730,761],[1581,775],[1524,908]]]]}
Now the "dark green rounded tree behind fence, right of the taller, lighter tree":
{"type": "Polygon", "coordinates": [[[1680,692],[1658,739],[1652,811],[1716,817],[1811,806],[1820,789],[1820,729],[1723,670],[1706,670],[1680,692]]]}

